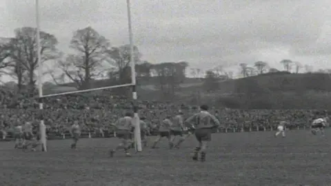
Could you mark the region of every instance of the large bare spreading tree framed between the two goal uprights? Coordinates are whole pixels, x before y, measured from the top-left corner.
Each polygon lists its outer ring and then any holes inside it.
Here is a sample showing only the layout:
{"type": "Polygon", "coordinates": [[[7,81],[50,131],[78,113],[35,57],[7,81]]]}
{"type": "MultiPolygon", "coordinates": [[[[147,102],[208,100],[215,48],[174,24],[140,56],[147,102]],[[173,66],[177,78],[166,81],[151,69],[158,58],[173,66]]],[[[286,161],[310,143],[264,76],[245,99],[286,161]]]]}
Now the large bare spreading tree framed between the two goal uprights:
{"type": "Polygon", "coordinates": [[[70,48],[78,54],[69,54],[59,61],[59,68],[79,89],[88,89],[91,80],[98,79],[106,69],[102,62],[106,60],[109,41],[91,27],[74,32],[70,48]]]}

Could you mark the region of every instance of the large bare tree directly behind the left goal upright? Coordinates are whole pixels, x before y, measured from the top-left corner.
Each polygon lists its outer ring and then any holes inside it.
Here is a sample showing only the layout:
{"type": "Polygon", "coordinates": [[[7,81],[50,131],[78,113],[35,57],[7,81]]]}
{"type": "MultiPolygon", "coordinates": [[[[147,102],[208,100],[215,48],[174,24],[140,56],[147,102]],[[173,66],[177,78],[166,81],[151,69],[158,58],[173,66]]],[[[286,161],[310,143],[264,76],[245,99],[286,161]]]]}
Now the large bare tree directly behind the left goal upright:
{"type": "MultiPolygon", "coordinates": [[[[34,88],[35,70],[38,68],[38,48],[37,48],[37,30],[35,28],[23,27],[14,30],[15,37],[10,41],[10,58],[14,62],[12,65],[13,74],[17,75],[19,86],[23,81],[24,72],[28,76],[29,87],[34,88]]],[[[52,34],[40,32],[41,62],[57,59],[59,52],[56,48],[57,39],[52,34]]],[[[42,74],[41,74],[42,75],[42,74]]]]}

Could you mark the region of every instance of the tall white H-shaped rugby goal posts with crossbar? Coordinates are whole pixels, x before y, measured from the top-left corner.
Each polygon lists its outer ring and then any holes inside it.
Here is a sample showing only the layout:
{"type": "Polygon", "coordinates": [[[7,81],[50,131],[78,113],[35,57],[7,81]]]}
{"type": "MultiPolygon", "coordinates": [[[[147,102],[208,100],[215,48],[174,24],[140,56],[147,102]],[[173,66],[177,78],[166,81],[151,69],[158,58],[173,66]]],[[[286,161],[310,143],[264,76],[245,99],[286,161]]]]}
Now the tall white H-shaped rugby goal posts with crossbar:
{"type": "Polygon", "coordinates": [[[136,70],[135,70],[135,62],[134,62],[134,47],[133,47],[133,34],[132,34],[132,24],[131,24],[131,11],[130,11],[130,0],[127,0],[127,9],[128,9],[128,31],[129,31],[129,39],[130,39],[130,65],[131,65],[131,83],[123,84],[123,85],[114,85],[108,87],[99,87],[89,90],[77,90],[72,92],[63,92],[59,94],[47,94],[43,95],[43,66],[41,63],[41,45],[40,45],[40,19],[39,19],[39,0],[35,0],[35,10],[36,10],[36,24],[37,24],[37,63],[38,63],[38,94],[39,94],[39,110],[40,110],[40,124],[39,124],[39,132],[40,132],[40,143],[41,150],[43,152],[47,152],[47,137],[46,137],[46,125],[43,121],[43,99],[51,96],[61,96],[66,94],[77,94],[82,92],[92,92],[95,90],[106,90],[116,87],[132,87],[132,108],[134,112],[134,147],[136,152],[141,152],[141,134],[140,134],[140,120],[138,114],[138,105],[137,105],[137,83],[136,83],[136,70]]]}

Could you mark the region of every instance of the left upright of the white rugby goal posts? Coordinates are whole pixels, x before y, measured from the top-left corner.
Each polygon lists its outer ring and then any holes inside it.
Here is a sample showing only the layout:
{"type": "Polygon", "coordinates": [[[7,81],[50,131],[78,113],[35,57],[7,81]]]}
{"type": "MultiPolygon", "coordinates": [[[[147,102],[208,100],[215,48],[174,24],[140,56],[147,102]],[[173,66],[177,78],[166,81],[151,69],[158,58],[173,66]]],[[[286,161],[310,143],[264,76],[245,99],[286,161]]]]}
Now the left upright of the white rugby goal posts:
{"type": "Polygon", "coordinates": [[[40,46],[40,23],[39,23],[39,0],[35,1],[36,6],[36,24],[37,24],[37,32],[36,32],[36,42],[37,42],[37,63],[38,63],[38,94],[39,94],[39,111],[40,111],[40,123],[39,123],[39,135],[40,135],[40,143],[41,150],[43,152],[47,152],[47,141],[46,141],[46,126],[43,123],[43,82],[42,82],[42,74],[43,67],[41,64],[41,46],[40,46]]]}

